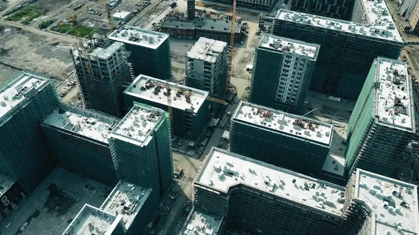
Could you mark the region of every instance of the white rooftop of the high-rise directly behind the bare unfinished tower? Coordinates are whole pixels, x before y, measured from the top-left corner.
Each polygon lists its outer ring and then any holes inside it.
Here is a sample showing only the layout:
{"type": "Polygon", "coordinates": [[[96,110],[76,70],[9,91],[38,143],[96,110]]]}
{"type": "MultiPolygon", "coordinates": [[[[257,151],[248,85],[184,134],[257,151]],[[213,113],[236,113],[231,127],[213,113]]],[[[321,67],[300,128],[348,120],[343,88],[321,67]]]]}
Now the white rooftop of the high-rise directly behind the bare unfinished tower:
{"type": "Polygon", "coordinates": [[[116,31],[110,33],[108,38],[121,43],[156,49],[169,38],[169,35],[166,33],[141,29],[135,26],[124,25],[116,31]]]}

